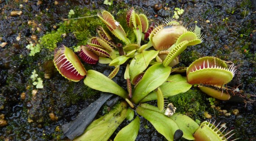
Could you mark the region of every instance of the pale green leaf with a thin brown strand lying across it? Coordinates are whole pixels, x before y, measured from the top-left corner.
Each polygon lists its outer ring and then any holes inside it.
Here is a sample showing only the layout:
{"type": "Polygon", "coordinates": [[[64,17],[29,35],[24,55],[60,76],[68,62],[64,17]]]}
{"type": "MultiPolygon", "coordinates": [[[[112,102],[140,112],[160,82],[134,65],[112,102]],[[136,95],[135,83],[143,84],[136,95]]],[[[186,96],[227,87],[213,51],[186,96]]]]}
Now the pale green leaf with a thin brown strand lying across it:
{"type": "Polygon", "coordinates": [[[159,51],[154,50],[142,51],[142,53],[134,56],[129,66],[129,74],[131,80],[134,79],[136,75],[146,70],[147,66],[149,66],[150,61],[157,56],[158,52],[159,51]]]}

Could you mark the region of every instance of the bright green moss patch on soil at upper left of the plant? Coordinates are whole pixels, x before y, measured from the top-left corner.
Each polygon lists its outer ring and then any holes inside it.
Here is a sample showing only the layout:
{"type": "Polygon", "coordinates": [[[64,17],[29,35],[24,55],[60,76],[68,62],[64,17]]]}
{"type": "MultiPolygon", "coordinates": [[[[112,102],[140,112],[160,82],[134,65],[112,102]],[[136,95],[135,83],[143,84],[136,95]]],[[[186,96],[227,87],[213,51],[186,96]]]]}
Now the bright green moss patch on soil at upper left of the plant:
{"type": "MultiPolygon", "coordinates": [[[[87,8],[75,8],[75,14],[71,18],[96,15],[98,10],[88,10],[87,8]]],[[[71,19],[58,24],[57,31],[45,34],[40,38],[40,46],[53,51],[57,43],[63,40],[64,33],[72,33],[78,40],[78,45],[86,44],[88,37],[96,34],[96,27],[102,25],[97,16],[81,19],[71,19]]]]}

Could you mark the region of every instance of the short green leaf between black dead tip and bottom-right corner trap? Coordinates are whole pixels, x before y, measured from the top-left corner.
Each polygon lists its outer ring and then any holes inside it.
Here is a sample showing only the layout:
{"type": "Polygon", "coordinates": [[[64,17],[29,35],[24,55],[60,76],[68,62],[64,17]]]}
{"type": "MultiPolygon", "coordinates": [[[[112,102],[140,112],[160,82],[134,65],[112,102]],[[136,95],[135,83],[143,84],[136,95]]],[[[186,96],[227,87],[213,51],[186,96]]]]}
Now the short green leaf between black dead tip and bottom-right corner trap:
{"type": "Polygon", "coordinates": [[[174,113],[170,118],[173,119],[179,126],[179,129],[183,131],[182,137],[187,140],[195,140],[193,134],[198,129],[199,125],[193,119],[180,113],[174,113]]]}

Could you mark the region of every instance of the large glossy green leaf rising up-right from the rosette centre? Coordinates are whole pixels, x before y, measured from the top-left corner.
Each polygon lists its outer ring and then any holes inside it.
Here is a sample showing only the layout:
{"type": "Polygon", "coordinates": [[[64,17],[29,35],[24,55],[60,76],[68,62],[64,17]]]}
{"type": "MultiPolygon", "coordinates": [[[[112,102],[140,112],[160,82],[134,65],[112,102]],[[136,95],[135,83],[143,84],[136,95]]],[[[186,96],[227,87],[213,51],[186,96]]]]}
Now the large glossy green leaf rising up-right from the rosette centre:
{"type": "Polygon", "coordinates": [[[171,73],[171,67],[164,67],[163,64],[154,64],[149,67],[143,75],[141,81],[134,89],[132,102],[138,104],[152,90],[162,85],[171,73]]]}

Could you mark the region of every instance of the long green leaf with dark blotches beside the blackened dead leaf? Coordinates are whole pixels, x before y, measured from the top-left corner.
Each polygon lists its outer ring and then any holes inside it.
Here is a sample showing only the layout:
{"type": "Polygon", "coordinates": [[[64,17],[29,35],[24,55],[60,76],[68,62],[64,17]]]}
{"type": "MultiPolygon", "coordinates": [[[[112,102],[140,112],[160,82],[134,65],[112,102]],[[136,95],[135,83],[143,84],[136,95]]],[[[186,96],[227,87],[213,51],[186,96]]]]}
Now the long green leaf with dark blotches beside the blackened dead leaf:
{"type": "Polygon", "coordinates": [[[85,132],[73,141],[107,141],[125,119],[127,103],[121,102],[108,114],[94,120],[85,132]]]}

